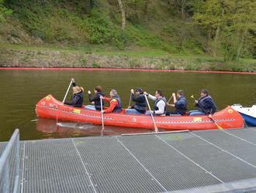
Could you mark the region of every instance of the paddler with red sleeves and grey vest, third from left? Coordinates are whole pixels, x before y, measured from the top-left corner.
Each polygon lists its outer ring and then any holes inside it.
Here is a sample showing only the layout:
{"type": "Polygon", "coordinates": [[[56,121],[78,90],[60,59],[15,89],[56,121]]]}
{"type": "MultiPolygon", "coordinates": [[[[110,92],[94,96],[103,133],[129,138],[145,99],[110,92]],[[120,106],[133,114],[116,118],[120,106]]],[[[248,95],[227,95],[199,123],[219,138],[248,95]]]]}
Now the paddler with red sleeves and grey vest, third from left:
{"type": "Polygon", "coordinates": [[[112,89],[110,90],[109,95],[111,98],[102,96],[100,97],[104,101],[110,103],[109,108],[102,110],[102,113],[120,113],[122,111],[122,102],[119,95],[117,94],[117,91],[112,89]]]}

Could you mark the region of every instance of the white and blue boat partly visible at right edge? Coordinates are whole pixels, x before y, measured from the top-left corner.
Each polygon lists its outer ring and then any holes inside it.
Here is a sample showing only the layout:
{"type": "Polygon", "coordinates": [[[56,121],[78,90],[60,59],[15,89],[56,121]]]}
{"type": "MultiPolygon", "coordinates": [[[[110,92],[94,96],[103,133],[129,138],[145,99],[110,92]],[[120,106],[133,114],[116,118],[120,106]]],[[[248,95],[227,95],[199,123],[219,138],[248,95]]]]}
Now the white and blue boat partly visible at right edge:
{"type": "Polygon", "coordinates": [[[240,104],[234,104],[231,107],[241,114],[247,126],[256,127],[256,104],[252,107],[243,107],[240,104]]]}

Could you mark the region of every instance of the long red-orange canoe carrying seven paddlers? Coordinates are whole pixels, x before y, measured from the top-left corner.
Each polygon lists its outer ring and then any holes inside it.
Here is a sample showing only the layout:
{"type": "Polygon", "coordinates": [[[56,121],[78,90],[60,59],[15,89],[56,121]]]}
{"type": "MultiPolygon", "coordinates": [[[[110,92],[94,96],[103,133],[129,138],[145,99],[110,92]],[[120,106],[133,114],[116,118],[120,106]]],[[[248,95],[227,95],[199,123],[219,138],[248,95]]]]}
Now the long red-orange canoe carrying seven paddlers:
{"type": "MultiPolygon", "coordinates": [[[[124,111],[124,110],[123,110],[124,111]]],[[[90,124],[102,124],[102,115],[98,110],[85,110],[84,107],[71,107],[48,95],[36,104],[36,114],[39,117],[57,120],[70,120],[90,124]]],[[[216,121],[223,129],[244,127],[243,117],[231,107],[220,110],[210,120],[206,115],[200,116],[155,116],[158,128],[164,130],[213,130],[217,129],[216,121]]],[[[152,118],[147,115],[132,115],[126,113],[105,113],[104,124],[118,127],[138,127],[154,129],[152,118]]]]}

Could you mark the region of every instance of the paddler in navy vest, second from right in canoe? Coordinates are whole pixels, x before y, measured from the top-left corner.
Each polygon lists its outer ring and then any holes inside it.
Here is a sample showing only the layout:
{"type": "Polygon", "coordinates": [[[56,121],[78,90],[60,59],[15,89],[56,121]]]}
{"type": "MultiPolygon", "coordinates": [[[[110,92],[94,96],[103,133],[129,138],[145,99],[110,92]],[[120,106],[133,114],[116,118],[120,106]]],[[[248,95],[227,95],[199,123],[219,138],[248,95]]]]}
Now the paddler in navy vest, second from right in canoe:
{"type": "Polygon", "coordinates": [[[167,103],[170,107],[175,107],[175,111],[168,111],[166,115],[185,115],[185,111],[187,110],[187,101],[184,97],[184,91],[177,91],[177,98],[175,93],[172,93],[173,104],[167,103]]]}

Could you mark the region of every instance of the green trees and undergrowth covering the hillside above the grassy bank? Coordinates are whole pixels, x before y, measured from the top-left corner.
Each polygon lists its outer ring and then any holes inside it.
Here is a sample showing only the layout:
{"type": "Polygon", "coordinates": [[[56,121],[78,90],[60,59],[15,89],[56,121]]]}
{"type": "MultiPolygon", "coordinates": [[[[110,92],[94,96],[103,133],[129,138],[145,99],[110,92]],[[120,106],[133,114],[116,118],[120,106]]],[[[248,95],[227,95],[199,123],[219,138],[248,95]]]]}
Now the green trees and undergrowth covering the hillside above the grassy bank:
{"type": "MultiPolygon", "coordinates": [[[[218,55],[227,61],[256,57],[255,1],[123,0],[123,4],[124,33],[119,4],[109,0],[0,0],[0,21],[13,11],[11,20],[29,38],[74,49],[99,45],[119,51],[140,47],[202,55],[207,44],[209,52],[216,46],[218,55]],[[220,29],[218,36],[216,29],[220,29]]],[[[19,28],[13,25],[6,34],[19,39],[19,28]]],[[[0,38],[11,41],[1,34],[0,30],[0,38]]]]}

